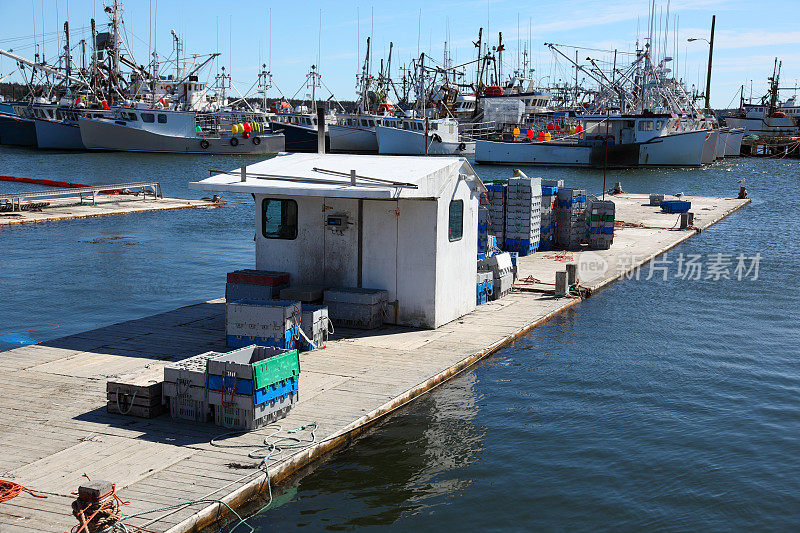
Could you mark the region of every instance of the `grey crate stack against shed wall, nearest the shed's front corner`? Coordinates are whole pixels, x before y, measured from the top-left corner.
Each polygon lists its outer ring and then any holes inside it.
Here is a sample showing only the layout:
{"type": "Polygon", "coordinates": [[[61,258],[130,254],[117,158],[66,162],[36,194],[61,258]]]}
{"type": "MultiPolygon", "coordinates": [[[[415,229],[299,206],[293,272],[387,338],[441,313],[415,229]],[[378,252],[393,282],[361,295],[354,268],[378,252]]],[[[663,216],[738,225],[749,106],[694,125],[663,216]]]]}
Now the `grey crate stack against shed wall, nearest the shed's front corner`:
{"type": "Polygon", "coordinates": [[[335,326],[375,329],[389,314],[389,293],[380,289],[335,287],[325,291],[325,305],[335,326]]]}

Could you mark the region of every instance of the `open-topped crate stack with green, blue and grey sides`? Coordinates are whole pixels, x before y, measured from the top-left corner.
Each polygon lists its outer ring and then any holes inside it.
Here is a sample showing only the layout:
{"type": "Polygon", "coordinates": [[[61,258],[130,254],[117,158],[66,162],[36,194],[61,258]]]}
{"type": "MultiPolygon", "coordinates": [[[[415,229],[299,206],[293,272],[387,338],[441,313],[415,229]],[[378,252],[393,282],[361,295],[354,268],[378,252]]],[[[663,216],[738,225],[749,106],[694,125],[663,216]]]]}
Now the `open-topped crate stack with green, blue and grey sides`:
{"type": "Polygon", "coordinates": [[[218,426],[253,430],[285,417],[297,403],[297,350],[248,346],[207,361],[208,403],[218,426]]]}

